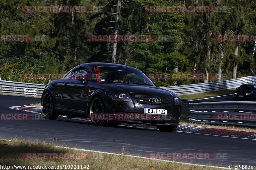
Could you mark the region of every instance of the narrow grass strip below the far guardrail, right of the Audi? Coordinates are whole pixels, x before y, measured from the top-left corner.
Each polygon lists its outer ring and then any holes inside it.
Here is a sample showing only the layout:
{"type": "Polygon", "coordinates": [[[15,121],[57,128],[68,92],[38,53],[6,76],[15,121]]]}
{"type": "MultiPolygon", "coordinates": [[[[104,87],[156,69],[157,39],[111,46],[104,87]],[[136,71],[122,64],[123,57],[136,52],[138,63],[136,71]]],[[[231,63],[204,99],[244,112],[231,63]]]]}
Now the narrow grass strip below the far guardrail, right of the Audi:
{"type": "Polygon", "coordinates": [[[216,96],[232,94],[235,91],[236,91],[236,89],[228,89],[228,90],[219,90],[219,91],[205,92],[205,93],[184,94],[184,95],[179,95],[179,97],[180,97],[181,101],[196,100],[196,99],[204,99],[204,98],[208,98],[208,97],[216,97],[216,96]]]}

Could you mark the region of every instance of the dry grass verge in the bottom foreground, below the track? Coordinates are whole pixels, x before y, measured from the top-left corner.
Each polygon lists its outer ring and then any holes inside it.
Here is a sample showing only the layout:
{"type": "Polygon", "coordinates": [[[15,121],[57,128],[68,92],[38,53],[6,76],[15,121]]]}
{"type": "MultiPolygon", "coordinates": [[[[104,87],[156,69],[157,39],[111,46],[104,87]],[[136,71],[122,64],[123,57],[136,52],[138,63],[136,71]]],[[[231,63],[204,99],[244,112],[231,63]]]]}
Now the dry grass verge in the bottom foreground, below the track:
{"type": "MultiPolygon", "coordinates": [[[[91,159],[92,155],[98,154],[95,152],[84,152],[79,150],[64,149],[56,147],[53,143],[45,143],[41,141],[25,141],[25,140],[0,140],[0,164],[11,166],[55,166],[53,169],[58,169],[61,165],[89,165],[89,169],[183,169],[183,170],[217,170],[215,167],[205,167],[196,165],[184,165],[180,163],[157,161],[152,159],[132,158],[123,155],[111,155],[100,153],[101,159],[91,159]],[[90,158],[86,160],[28,160],[22,158],[26,153],[80,153],[90,154],[90,158]]],[[[122,153],[125,155],[125,153],[122,153]]],[[[26,158],[26,157],[25,157],[26,158]]],[[[94,157],[94,158],[97,158],[94,157]]],[[[87,166],[86,166],[87,167],[87,166]]],[[[15,168],[15,169],[25,169],[15,168]]],[[[36,168],[35,168],[36,169],[36,168]]],[[[43,168],[41,168],[43,169],[43,168]]],[[[60,168],[59,168],[60,169],[60,168]]],[[[64,168],[65,169],[65,168],[64,168]]],[[[72,169],[72,168],[68,168],[72,169]]]]}

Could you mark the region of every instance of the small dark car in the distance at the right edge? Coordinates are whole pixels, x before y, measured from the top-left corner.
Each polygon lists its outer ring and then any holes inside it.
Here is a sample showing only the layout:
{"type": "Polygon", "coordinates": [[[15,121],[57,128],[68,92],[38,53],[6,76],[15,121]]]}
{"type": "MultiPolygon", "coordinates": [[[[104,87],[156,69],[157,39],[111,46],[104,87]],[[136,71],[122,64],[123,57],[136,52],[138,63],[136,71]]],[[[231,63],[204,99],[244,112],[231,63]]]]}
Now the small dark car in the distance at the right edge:
{"type": "Polygon", "coordinates": [[[256,97],[256,85],[241,85],[236,88],[236,92],[233,93],[234,100],[254,100],[256,97]]]}

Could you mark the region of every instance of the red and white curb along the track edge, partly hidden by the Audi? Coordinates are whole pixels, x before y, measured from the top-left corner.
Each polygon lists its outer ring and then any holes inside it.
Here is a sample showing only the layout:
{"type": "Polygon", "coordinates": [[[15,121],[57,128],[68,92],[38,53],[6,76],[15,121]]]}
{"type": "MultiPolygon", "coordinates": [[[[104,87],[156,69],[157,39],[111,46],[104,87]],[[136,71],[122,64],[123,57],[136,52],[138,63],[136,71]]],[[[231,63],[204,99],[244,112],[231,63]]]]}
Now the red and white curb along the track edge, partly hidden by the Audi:
{"type": "MultiPolygon", "coordinates": [[[[22,110],[22,111],[26,111],[26,112],[41,114],[41,109],[39,107],[36,107],[35,105],[12,106],[10,108],[15,109],[15,110],[22,110]]],[[[66,116],[63,116],[63,117],[66,117],[66,116]]],[[[83,121],[90,121],[87,118],[75,118],[75,119],[79,119],[79,120],[83,120],[83,121]]],[[[143,124],[128,125],[128,124],[122,123],[119,126],[142,128],[142,129],[156,129],[157,130],[156,126],[148,126],[148,125],[143,125],[143,124]]],[[[256,140],[255,132],[218,129],[218,128],[193,126],[193,125],[186,125],[186,124],[180,124],[175,131],[176,132],[185,132],[185,133],[196,133],[196,134],[203,134],[203,135],[212,135],[212,136],[219,136],[219,137],[232,137],[232,138],[256,140]]]]}

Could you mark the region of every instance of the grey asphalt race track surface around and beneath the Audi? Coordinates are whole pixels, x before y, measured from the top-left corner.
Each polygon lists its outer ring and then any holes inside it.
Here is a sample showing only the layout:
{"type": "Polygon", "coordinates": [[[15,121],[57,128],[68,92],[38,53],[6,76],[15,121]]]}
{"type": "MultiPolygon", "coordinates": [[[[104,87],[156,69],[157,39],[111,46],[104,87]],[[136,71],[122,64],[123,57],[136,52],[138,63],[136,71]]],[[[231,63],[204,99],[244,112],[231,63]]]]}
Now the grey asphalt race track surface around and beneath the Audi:
{"type": "MultiPolygon", "coordinates": [[[[182,102],[188,109],[190,102],[227,101],[232,95],[205,100],[182,102]]],[[[22,106],[40,102],[38,98],[0,95],[0,113],[28,113],[13,110],[11,106],[22,106]]],[[[134,127],[93,126],[89,122],[66,117],[57,120],[0,121],[0,138],[39,139],[69,147],[145,156],[150,152],[167,153],[213,153],[214,159],[194,160],[192,163],[228,167],[228,165],[256,165],[255,140],[217,137],[174,131],[160,132],[156,129],[134,127]],[[224,154],[227,159],[216,159],[224,154]]],[[[180,160],[184,161],[185,160],[180,160]]],[[[188,161],[191,162],[191,161],[188,161]]]]}

